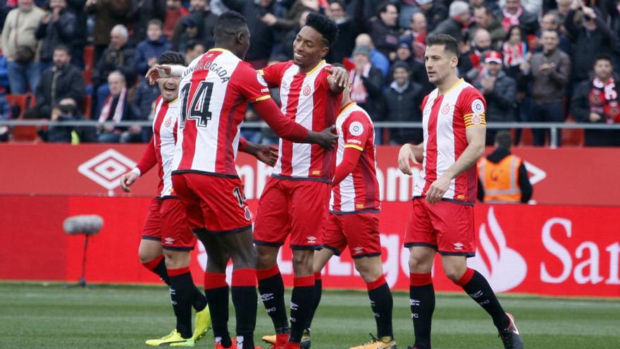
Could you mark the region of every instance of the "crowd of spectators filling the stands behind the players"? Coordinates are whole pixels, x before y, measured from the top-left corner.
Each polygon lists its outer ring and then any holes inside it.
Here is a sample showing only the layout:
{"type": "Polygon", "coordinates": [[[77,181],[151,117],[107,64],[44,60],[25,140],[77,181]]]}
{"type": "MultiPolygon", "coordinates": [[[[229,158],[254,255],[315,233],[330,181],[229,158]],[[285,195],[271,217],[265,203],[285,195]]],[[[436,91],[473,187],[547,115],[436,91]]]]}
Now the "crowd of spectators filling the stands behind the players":
{"type": "MultiPolygon", "coordinates": [[[[292,59],[309,13],[335,20],[340,34],[326,59],[345,64],[352,101],[374,121],[422,120],[419,106],[433,90],[425,38],[450,34],[461,46],[459,75],[483,92],[490,124],[620,123],[619,8],[612,0],[2,0],[0,118],[149,120],[159,89],[144,73],[163,51],[180,51],[189,63],[213,47],[215,20],[232,9],[247,18],[246,59],[256,69],[292,59]],[[5,97],[27,93],[24,110],[5,97]]],[[[249,109],[246,120],[259,116],[249,109]]],[[[545,132],[533,130],[533,145],[548,142],[545,132]]],[[[0,140],[8,133],[1,128],[0,140]]],[[[488,145],[495,133],[488,130],[488,145]]],[[[39,135],[147,142],[151,130],[51,127],[39,135]]],[[[277,141],[269,130],[242,135],[277,141]]],[[[377,135],[378,144],[421,140],[415,128],[377,135]]],[[[619,146],[620,131],[585,130],[585,145],[619,146]]]]}

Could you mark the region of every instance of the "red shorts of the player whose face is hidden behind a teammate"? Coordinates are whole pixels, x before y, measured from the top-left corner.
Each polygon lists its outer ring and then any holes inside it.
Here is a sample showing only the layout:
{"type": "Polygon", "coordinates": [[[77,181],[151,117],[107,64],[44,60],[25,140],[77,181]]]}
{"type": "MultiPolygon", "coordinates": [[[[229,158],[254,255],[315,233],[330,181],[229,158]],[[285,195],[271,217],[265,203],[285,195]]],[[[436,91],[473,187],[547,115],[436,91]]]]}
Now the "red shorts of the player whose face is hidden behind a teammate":
{"type": "Polygon", "coordinates": [[[380,256],[379,214],[329,214],[323,247],[340,256],[347,245],[353,258],[380,256]]]}

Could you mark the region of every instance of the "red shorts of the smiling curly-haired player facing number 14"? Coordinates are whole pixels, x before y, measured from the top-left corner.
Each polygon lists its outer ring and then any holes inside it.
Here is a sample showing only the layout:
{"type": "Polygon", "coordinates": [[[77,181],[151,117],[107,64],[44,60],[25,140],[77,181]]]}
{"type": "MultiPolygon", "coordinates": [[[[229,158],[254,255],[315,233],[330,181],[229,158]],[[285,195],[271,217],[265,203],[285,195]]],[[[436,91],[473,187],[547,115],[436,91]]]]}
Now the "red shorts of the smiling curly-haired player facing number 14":
{"type": "Polygon", "coordinates": [[[318,250],[323,244],[331,184],[318,180],[270,177],[261,194],[254,224],[256,245],[318,250]]]}

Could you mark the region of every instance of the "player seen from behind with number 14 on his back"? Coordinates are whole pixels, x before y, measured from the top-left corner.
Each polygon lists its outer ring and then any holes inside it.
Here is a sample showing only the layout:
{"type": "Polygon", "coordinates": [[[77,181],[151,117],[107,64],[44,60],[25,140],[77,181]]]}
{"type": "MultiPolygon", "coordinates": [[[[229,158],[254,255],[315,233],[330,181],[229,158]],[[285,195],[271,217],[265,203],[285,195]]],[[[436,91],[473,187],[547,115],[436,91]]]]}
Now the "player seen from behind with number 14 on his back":
{"type": "MultiPolygon", "coordinates": [[[[233,305],[237,315],[236,348],[254,349],[256,326],[256,250],[252,214],[235,169],[239,128],[247,101],[275,133],[294,142],[316,143],[331,149],[337,136],[325,129],[307,130],[280,112],[268,85],[249,63],[243,16],[223,13],[216,20],[215,49],[194,59],[182,73],[178,142],[173,159],[173,188],[184,204],[190,227],[202,241],[208,262],[205,293],[213,320],[216,348],[230,348],[226,264],[233,259],[233,305]]],[[[172,67],[156,66],[173,73],[172,67]]],[[[317,146],[318,147],[318,146],[317,146]]]]}

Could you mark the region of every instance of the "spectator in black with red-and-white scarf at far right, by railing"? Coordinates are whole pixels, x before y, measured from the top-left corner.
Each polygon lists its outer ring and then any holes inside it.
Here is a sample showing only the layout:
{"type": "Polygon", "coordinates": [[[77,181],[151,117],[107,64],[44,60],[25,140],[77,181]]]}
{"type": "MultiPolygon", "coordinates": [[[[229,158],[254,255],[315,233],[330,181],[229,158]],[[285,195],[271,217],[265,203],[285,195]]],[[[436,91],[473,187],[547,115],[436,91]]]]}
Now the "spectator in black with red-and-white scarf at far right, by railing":
{"type": "MultiPolygon", "coordinates": [[[[594,78],[581,82],[571,103],[571,113],[583,123],[620,123],[620,95],[616,87],[612,58],[597,57],[594,78]]],[[[620,147],[619,130],[585,130],[588,147],[620,147]]]]}

